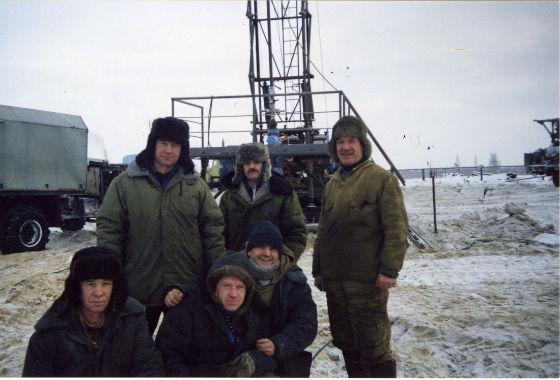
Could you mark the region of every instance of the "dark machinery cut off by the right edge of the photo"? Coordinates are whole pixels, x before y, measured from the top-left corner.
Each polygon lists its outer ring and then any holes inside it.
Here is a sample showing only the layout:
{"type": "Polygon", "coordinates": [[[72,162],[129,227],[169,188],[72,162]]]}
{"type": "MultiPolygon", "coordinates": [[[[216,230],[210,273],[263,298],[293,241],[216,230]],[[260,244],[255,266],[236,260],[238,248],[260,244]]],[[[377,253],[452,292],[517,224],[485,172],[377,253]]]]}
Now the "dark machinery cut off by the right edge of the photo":
{"type": "Polygon", "coordinates": [[[533,175],[552,175],[554,186],[558,187],[560,148],[558,146],[558,120],[560,118],[534,120],[542,125],[550,135],[551,144],[548,148],[540,148],[533,153],[525,153],[525,168],[533,175]],[[550,129],[547,126],[550,123],[550,129]]]}

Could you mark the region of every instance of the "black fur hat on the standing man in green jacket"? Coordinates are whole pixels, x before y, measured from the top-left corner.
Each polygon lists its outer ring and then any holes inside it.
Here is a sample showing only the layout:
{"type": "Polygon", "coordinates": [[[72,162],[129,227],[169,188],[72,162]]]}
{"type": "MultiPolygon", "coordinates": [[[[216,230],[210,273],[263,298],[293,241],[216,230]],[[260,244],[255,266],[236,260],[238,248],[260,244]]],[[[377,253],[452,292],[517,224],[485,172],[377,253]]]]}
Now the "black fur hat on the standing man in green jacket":
{"type": "Polygon", "coordinates": [[[193,160],[189,157],[189,125],[186,121],[176,117],[157,118],[152,122],[152,129],[148,135],[146,149],[136,156],[136,163],[142,169],[152,167],[156,156],[157,140],[172,141],[181,145],[178,165],[185,169],[185,173],[192,173],[194,170],[193,160]]]}

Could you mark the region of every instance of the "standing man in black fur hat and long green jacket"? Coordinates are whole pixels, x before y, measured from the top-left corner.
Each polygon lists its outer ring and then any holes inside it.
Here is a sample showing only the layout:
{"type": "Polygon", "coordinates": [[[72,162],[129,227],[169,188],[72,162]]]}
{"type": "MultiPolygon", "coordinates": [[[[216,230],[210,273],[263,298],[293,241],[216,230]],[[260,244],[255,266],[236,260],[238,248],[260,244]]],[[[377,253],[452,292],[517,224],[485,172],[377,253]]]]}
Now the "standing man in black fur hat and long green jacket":
{"type": "Polygon", "coordinates": [[[146,149],[111,182],[96,222],[97,245],[119,255],[153,334],[164,299],[183,298],[167,288],[194,285],[201,265],[225,251],[222,213],[189,158],[185,121],[153,121],[146,149]]]}

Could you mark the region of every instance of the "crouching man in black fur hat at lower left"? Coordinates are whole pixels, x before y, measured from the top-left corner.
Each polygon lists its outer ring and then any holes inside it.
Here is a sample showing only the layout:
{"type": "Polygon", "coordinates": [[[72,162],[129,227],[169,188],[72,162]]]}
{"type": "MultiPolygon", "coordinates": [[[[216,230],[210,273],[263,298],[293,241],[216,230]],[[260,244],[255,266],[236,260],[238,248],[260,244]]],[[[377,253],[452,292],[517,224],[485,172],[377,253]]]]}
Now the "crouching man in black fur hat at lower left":
{"type": "Polygon", "coordinates": [[[163,376],[144,317],[128,297],[127,279],[113,251],[77,251],[62,296],[35,325],[24,377],[163,376]]]}

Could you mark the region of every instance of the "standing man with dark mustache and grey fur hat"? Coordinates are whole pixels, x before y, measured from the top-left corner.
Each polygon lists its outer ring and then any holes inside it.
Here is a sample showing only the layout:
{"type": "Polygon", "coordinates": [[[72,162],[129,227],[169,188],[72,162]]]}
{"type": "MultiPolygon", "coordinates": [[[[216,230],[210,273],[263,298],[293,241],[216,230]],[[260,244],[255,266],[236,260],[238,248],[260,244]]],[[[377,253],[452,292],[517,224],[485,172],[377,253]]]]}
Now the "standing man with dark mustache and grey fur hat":
{"type": "Polygon", "coordinates": [[[222,175],[220,183],[227,189],[220,199],[226,249],[244,250],[257,222],[268,220],[278,226],[285,251],[297,262],[307,243],[304,214],[290,181],[272,171],[267,147],[241,144],[235,169],[222,175]]]}

